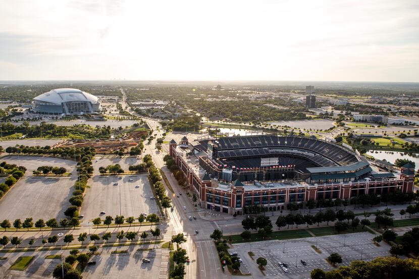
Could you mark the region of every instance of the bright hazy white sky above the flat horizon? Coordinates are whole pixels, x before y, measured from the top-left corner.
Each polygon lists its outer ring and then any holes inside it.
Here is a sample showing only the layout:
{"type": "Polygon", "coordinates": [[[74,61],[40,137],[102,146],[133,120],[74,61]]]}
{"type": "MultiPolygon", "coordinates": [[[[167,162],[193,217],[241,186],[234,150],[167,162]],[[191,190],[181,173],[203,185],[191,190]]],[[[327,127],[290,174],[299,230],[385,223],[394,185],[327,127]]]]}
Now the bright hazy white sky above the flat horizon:
{"type": "Polygon", "coordinates": [[[0,5],[0,80],[419,82],[418,0],[0,5]]]}

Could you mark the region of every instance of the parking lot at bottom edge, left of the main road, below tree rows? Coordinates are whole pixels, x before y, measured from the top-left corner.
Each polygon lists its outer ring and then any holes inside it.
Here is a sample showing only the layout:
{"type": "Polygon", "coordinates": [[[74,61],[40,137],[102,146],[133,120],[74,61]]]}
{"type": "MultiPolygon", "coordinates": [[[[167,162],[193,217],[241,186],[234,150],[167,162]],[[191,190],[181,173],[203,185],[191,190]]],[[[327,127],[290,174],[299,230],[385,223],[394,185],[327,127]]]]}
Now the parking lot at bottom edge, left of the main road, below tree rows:
{"type": "MultiPolygon", "coordinates": [[[[144,246],[147,249],[150,246],[144,246]]],[[[128,253],[111,254],[116,248],[104,248],[99,255],[94,255],[92,261],[95,265],[88,265],[83,273],[84,278],[155,278],[159,274],[162,263],[162,249],[138,250],[138,246],[119,247],[118,250],[127,250],[128,253]],[[143,263],[147,258],[150,262],[143,263]]],[[[141,246],[140,249],[144,249],[141,246]]]]}

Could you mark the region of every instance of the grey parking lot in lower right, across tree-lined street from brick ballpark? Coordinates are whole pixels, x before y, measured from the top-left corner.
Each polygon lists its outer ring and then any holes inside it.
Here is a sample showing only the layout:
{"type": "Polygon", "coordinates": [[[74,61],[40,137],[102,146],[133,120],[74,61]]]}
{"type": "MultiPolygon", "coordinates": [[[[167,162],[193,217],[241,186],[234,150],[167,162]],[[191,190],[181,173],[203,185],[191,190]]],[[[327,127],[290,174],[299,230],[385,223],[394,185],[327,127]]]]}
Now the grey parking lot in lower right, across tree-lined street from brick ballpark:
{"type": "Polygon", "coordinates": [[[340,265],[349,265],[356,259],[372,260],[380,256],[388,256],[390,246],[381,243],[377,247],[373,242],[374,236],[370,233],[357,233],[346,235],[334,235],[325,237],[313,237],[289,241],[261,241],[253,243],[234,244],[230,252],[237,252],[242,258],[242,272],[249,270],[255,277],[264,277],[258,270],[256,259],[264,257],[268,264],[265,266],[265,275],[270,278],[309,278],[311,270],[321,268],[325,271],[333,269],[326,261],[331,253],[338,253],[342,256],[343,262],[340,265]],[[315,251],[312,246],[318,247],[321,254],[315,251]],[[248,252],[253,252],[252,260],[248,252]],[[301,262],[305,261],[305,264],[301,262]],[[285,263],[288,272],[284,272],[278,262],[285,263]]]}

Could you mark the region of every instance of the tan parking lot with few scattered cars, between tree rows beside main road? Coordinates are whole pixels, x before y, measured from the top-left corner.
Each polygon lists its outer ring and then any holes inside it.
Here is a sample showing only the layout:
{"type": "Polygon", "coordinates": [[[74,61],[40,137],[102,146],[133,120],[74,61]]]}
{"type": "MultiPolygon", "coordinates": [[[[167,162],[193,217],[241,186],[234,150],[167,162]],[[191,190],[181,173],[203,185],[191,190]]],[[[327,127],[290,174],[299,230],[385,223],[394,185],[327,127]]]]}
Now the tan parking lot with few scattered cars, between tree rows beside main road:
{"type": "Polygon", "coordinates": [[[89,181],[89,185],[91,188],[86,191],[81,209],[84,221],[98,216],[104,218],[104,215],[115,217],[122,214],[125,217],[138,217],[143,212],[159,212],[155,200],[150,199],[152,192],[147,174],[120,177],[96,175],[89,181]],[[139,187],[136,188],[136,185],[139,187]],[[100,214],[101,211],[106,214],[100,214]]]}

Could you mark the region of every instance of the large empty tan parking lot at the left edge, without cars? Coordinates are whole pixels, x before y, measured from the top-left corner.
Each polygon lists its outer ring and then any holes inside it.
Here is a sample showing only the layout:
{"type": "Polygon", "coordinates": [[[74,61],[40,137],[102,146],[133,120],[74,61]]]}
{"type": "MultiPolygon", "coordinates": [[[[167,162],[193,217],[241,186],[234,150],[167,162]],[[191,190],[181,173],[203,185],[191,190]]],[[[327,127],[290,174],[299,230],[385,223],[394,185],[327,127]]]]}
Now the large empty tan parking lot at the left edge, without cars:
{"type": "Polygon", "coordinates": [[[0,201],[0,220],[64,218],[75,179],[24,176],[0,201]]]}

